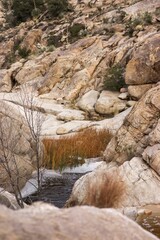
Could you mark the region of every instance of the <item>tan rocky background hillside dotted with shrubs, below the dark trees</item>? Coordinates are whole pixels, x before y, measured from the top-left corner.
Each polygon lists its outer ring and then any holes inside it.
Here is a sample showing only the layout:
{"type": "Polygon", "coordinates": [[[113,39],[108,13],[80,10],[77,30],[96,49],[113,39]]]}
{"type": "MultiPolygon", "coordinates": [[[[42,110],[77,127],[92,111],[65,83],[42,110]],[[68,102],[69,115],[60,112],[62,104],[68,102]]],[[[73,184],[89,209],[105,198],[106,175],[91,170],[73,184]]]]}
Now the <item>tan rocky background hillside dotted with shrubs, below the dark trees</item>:
{"type": "MultiPolygon", "coordinates": [[[[123,74],[126,72],[132,99],[139,99],[159,81],[158,0],[71,1],[71,4],[74,10],[60,19],[44,16],[9,29],[3,24],[2,92],[17,91],[27,84],[41,98],[75,104],[91,90],[101,93],[107,89],[107,83],[104,86],[107,69],[113,65],[118,68],[119,64],[124,68],[123,74]],[[134,75],[135,71],[141,79],[134,75]],[[143,75],[148,79],[144,80],[143,75]]],[[[96,102],[98,93],[93,96],[96,102]]],[[[118,101],[117,95],[114,100],[118,101]]],[[[117,111],[121,111],[127,102],[122,104],[119,100],[116,105],[117,111]]],[[[108,114],[98,106],[96,112],[108,114]]]]}

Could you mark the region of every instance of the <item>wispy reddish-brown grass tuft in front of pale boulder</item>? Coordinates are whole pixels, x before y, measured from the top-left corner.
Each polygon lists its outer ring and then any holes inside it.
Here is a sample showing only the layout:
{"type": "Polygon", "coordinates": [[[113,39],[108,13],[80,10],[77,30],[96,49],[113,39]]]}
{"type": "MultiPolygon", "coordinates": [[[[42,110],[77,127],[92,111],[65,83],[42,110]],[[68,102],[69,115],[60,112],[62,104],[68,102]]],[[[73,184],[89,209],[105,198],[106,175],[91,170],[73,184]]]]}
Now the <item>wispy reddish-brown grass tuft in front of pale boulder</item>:
{"type": "Polygon", "coordinates": [[[116,173],[104,173],[95,184],[89,183],[87,196],[82,205],[99,208],[117,208],[123,201],[126,186],[122,178],[116,173]]]}

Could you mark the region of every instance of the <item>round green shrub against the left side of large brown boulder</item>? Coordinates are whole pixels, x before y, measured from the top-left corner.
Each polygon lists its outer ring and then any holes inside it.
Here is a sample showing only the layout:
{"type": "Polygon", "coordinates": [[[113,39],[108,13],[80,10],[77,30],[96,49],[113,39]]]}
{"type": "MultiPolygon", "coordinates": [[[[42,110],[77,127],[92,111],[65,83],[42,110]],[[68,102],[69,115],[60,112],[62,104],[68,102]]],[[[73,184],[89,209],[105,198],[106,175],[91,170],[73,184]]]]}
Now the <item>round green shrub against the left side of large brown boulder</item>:
{"type": "Polygon", "coordinates": [[[119,64],[109,68],[104,77],[104,89],[109,91],[119,91],[124,86],[124,68],[119,64]]]}

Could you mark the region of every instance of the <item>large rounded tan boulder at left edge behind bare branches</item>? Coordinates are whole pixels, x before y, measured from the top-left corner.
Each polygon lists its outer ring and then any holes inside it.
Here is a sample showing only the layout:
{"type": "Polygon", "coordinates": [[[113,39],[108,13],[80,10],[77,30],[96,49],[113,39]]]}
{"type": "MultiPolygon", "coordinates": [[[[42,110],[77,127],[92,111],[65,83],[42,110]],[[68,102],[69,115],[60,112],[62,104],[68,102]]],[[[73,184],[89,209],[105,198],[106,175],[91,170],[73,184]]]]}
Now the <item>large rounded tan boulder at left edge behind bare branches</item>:
{"type": "Polygon", "coordinates": [[[13,192],[8,172],[3,163],[8,164],[11,177],[22,188],[34,169],[35,150],[29,129],[14,104],[0,102],[0,187],[13,192]]]}

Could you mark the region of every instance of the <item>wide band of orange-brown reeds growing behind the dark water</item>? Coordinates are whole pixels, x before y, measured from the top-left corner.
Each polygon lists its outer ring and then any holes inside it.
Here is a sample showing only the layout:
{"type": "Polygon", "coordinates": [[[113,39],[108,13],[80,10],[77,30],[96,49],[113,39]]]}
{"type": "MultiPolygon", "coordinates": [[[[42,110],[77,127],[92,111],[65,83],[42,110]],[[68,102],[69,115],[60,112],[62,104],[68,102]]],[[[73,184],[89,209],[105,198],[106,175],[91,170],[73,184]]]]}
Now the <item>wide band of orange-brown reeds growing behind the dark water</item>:
{"type": "Polygon", "coordinates": [[[48,156],[45,164],[52,169],[77,166],[84,158],[101,156],[111,137],[108,130],[90,128],[59,139],[44,139],[48,156]]]}

